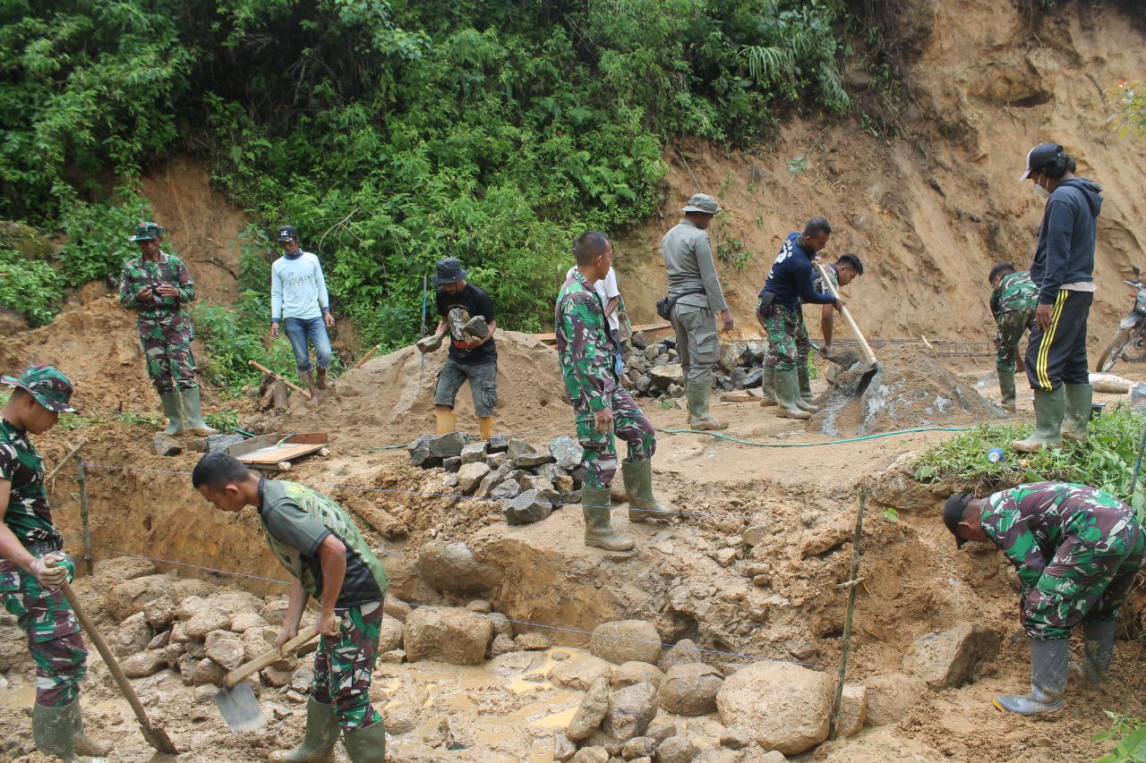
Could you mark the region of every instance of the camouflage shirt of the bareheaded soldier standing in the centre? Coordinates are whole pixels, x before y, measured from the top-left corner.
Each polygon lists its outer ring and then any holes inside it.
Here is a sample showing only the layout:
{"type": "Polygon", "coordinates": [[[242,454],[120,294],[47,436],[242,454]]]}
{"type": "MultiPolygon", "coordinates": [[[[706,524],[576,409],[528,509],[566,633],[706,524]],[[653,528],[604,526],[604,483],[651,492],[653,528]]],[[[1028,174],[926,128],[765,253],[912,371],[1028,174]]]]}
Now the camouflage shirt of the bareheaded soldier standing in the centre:
{"type": "Polygon", "coordinates": [[[574,414],[584,416],[605,408],[617,388],[617,345],[609,333],[601,297],[580,270],[570,274],[557,294],[554,323],[557,360],[574,414]]]}

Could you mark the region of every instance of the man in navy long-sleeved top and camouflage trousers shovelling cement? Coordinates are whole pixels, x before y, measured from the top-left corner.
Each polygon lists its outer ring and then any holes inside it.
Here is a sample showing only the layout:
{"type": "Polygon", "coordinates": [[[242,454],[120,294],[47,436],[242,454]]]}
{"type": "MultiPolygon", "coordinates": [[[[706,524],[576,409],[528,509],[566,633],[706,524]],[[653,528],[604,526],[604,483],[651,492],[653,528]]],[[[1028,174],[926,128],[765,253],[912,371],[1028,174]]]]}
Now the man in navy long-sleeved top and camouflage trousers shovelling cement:
{"type": "Polygon", "coordinates": [[[842,299],[832,297],[830,292],[821,293],[815,286],[811,262],[816,253],[827,246],[831,235],[832,227],[824,218],[809,220],[802,234],[788,234],[768,272],[764,288],[760,290],[756,320],[768,333],[764,373],[775,373],[776,401],[779,403],[777,416],[780,418],[809,418],[817,410],[800,396],[798,333],[804,330],[800,301],[833,305],[835,309],[843,306],[842,299]]]}

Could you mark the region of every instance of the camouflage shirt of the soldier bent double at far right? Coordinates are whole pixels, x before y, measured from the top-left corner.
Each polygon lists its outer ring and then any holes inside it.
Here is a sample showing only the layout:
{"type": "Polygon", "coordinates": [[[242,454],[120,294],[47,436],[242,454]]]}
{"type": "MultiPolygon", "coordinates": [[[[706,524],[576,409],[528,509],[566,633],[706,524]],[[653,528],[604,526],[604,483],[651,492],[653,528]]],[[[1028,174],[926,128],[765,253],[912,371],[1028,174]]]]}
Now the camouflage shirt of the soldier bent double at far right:
{"type": "Polygon", "coordinates": [[[1133,510],[1109,493],[1072,482],[1031,482],[987,496],[981,527],[1019,572],[1026,595],[1068,536],[1096,553],[1124,553],[1133,510]]]}

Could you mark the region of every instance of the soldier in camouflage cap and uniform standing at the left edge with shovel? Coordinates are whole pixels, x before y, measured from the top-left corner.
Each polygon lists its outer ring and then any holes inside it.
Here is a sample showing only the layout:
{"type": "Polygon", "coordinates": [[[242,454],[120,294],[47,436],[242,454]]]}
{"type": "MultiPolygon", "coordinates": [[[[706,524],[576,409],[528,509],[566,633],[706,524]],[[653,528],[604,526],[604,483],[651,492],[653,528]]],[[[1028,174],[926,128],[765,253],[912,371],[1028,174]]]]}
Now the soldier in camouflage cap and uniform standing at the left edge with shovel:
{"type": "Polygon", "coordinates": [[[79,684],[87,672],[87,650],[79,622],[60,584],[76,575],[76,563],[63,551],[63,536],[52,524],[44,459],[29,434],[50,430],[69,403],[72,384],[50,365],[31,365],[0,408],[0,601],[28,635],[36,663],[32,738],[41,753],[65,761],[77,755],[107,755],[84,734],[79,684]]]}

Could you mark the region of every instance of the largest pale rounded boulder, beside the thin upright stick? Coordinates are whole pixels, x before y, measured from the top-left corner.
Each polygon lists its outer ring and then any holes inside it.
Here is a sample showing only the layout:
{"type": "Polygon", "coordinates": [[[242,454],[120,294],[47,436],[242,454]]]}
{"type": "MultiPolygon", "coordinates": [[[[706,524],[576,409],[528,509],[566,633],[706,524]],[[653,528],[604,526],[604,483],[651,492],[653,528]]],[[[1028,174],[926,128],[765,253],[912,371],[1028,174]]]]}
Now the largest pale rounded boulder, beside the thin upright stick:
{"type": "Polygon", "coordinates": [[[796,755],[827,738],[833,682],[786,662],[759,662],[733,672],[716,693],[725,726],[747,727],[756,744],[796,755]]]}

